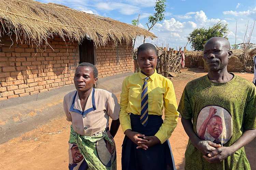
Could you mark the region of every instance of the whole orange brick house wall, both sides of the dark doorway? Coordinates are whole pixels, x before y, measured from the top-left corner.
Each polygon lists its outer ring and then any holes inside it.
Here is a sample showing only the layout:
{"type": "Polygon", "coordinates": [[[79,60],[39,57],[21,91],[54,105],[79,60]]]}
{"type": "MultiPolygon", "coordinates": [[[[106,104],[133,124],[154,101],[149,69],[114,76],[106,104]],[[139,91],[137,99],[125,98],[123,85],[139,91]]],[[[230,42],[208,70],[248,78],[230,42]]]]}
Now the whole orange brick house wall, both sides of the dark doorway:
{"type": "MultiPolygon", "coordinates": [[[[79,65],[79,44],[60,37],[48,39],[39,47],[21,43],[16,36],[1,37],[0,100],[48,91],[73,83],[79,65]]],[[[99,78],[133,71],[132,44],[109,42],[95,47],[95,66],[99,78]]]]}

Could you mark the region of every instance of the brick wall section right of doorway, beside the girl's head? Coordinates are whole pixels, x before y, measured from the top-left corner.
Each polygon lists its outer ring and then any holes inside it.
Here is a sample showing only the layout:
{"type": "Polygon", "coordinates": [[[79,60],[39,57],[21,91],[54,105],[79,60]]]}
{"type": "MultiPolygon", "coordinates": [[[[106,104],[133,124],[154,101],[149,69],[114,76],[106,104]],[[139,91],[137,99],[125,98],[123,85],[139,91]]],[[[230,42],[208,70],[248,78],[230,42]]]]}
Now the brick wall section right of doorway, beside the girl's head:
{"type": "Polygon", "coordinates": [[[95,66],[98,78],[123,74],[133,71],[132,44],[122,43],[113,48],[111,43],[95,48],[95,66]]]}

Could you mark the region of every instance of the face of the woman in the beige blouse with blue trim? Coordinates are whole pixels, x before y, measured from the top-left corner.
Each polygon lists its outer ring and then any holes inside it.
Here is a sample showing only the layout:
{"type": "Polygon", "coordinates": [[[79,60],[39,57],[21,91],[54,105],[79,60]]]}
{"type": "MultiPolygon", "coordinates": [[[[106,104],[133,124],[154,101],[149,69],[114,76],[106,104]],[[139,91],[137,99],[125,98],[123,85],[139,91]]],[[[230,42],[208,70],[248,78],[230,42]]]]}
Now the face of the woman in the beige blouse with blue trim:
{"type": "Polygon", "coordinates": [[[91,67],[79,66],[75,71],[74,84],[78,91],[88,91],[93,88],[97,82],[97,78],[93,76],[93,69],[91,67]]]}

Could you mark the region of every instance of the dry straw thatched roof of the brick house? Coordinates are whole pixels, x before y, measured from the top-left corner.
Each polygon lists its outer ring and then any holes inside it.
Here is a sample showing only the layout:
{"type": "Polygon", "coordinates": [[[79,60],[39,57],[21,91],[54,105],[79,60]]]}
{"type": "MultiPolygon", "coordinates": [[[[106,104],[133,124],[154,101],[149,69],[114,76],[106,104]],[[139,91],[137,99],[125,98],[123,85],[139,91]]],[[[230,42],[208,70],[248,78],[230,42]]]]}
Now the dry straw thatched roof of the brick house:
{"type": "Polygon", "coordinates": [[[124,40],[132,42],[136,36],[155,37],[145,29],[111,18],[87,14],[67,6],[41,3],[33,0],[0,0],[1,34],[15,33],[40,45],[53,36],[81,42],[92,39],[96,46],[124,40]]]}

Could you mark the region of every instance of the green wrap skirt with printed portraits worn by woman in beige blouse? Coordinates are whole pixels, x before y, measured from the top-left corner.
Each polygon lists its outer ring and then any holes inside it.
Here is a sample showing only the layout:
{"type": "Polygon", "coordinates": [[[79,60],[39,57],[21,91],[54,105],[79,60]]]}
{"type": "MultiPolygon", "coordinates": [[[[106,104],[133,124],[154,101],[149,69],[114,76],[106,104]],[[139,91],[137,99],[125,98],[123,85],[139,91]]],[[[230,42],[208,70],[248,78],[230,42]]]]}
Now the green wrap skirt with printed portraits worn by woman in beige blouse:
{"type": "Polygon", "coordinates": [[[69,170],[116,170],[116,147],[109,128],[92,136],[70,128],[69,170]]]}

